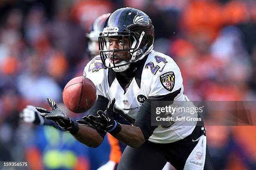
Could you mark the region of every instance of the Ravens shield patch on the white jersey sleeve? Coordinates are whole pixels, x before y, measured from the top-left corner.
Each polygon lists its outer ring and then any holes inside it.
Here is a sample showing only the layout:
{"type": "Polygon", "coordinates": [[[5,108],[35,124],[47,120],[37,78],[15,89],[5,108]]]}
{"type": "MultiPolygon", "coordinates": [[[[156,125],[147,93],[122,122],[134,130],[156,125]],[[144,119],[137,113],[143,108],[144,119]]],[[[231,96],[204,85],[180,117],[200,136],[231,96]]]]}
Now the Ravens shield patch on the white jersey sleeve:
{"type": "Polygon", "coordinates": [[[160,82],[166,90],[171,92],[175,83],[174,72],[170,71],[160,75],[160,82]]]}

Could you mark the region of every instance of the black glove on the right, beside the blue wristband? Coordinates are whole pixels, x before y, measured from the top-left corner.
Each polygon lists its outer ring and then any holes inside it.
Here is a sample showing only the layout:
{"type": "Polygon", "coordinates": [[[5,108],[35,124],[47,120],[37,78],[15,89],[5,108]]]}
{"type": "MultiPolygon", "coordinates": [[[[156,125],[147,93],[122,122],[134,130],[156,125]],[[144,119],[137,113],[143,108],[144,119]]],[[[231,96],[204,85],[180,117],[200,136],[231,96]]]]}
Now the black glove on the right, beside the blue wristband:
{"type": "Polygon", "coordinates": [[[110,100],[108,108],[104,112],[99,110],[96,115],[84,116],[82,117],[83,120],[77,120],[77,122],[95,128],[100,128],[111,135],[116,135],[121,131],[122,126],[113,119],[114,104],[115,98],[110,100]]]}

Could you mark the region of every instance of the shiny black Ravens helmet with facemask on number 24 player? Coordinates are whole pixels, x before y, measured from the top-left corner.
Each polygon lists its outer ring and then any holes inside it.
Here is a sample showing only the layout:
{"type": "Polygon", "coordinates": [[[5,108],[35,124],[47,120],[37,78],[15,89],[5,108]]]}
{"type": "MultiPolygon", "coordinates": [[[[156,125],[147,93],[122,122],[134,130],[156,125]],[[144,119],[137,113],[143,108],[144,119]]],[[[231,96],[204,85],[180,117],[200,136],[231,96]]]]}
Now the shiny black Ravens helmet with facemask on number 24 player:
{"type": "Polygon", "coordinates": [[[105,23],[105,28],[99,36],[99,50],[103,65],[116,72],[129,68],[133,62],[141,60],[152,49],[154,42],[154,26],[151,19],[141,10],[131,7],[120,8],[113,12],[105,23]],[[108,37],[129,38],[129,46],[123,49],[109,50],[108,37]],[[115,64],[115,52],[128,51],[128,62],[121,61],[115,64]],[[113,52],[110,56],[110,52],[113,52]],[[110,58],[113,60],[110,62],[110,58]]]}

